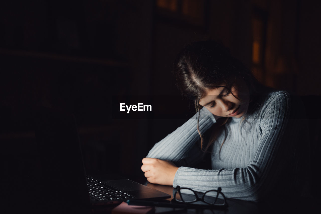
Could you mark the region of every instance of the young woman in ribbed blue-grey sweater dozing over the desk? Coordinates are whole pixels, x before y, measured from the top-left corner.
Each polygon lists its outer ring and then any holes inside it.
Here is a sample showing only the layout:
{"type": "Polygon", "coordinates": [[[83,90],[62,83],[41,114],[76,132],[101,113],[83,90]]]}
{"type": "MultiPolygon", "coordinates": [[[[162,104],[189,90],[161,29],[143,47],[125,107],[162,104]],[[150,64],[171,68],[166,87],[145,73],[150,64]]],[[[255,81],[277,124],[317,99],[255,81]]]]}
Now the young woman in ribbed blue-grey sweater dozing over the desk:
{"type": "Polygon", "coordinates": [[[197,113],[143,159],[149,182],[199,192],[221,187],[226,197],[251,201],[306,192],[308,134],[296,98],[261,85],[213,41],[187,45],[174,75],[197,113]],[[194,168],[208,152],[211,169],[194,168]]]}

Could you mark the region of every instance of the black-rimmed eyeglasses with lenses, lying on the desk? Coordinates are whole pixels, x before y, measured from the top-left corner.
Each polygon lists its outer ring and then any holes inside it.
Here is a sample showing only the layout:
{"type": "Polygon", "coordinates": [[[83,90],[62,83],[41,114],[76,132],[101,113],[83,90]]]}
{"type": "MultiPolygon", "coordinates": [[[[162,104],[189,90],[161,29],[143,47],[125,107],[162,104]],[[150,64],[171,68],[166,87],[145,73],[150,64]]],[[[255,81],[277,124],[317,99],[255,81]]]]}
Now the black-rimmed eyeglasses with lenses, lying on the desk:
{"type": "Polygon", "coordinates": [[[180,203],[193,203],[196,201],[203,201],[208,205],[215,207],[227,207],[225,195],[221,192],[222,188],[219,187],[217,190],[208,190],[203,193],[202,197],[199,197],[197,192],[190,188],[176,186],[176,191],[173,194],[172,201],[180,203]],[[223,199],[219,198],[219,195],[223,199]],[[216,196],[213,196],[216,195],[216,196]]]}

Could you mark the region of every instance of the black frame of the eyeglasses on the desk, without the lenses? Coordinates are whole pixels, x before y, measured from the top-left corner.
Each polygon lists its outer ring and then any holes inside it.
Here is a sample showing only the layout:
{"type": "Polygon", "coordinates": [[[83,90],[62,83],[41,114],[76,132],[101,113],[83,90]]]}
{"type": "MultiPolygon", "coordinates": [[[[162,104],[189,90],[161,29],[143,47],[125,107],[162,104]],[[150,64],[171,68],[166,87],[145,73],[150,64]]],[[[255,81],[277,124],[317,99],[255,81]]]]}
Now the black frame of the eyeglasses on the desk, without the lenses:
{"type": "Polygon", "coordinates": [[[202,195],[202,198],[198,197],[197,193],[196,193],[194,190],[192,190],[191,188],[188,188],[188,187],[182,187],[182,188],[181,188],[179,185],[177,185],[177,186],[175,187],[175,189],[176,189],[176,191],[175,191],[174,194],[173,194],[173,199],[172,199],[172,201],[175,201],[175,202],[178,202],[178,203],[188,204],[188,203],[194,203],[194,202],[196,202],[196,201],[203,201],[203,202],[205,202],[206,204],[209,204],[209,205],[215,206],[215,207],[227,207],[227,206],[228,206],[228,205],[227,205],[226,198],[225,198],[225,195],[223,194],[223,192],[221,192],[221,190],[222,190],[221,187],[218,187],[217,190],[208,190],[208,191],[204,192],[203,195],[202,195]],[[180,190],[182,190],[182,189],[186,189],[186,190],[192,191],[192,192],[194,193],[194,195],[195,195],[195,200],[194,200],[194,201],[187,201],[187,202],[185,202],[184,199],[183,199],[183,197],[182,197],[182,194],[181,194],[181,192],[180,192],[180,190]],[[178,200],[176,199],[176,193],[177,193],[177,192],[178,192],[179,196],[181,197],[182,201],[178,201],[178,200]],[[204,196],[205,196],[206,193],[208,193],[208,192],[217,192],[216,197],[215,197],[215,200],[213,201],[213,203],[209,203],[209,202],[206,202],[206,201],[204,200],[204,196]],[[218,199],[218,196],[219,196],[220,193],[221,193],[221,195],[222,195],[223,198],[224,198],[224,204],[215,204],[215,202],[216,202],[216,200],[218,199]]]}

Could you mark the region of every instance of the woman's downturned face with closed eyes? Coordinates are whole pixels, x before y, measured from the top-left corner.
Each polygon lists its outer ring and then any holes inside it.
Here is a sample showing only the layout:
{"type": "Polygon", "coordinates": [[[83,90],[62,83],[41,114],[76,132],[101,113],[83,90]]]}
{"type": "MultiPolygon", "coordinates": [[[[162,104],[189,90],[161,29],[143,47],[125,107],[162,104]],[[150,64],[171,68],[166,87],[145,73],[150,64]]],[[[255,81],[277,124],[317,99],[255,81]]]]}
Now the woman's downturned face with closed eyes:
{"type": "Polygon", "coordinates": [[[250,99],[248,88],[243,80],[239,80],[232,85],[230,92],[225,87],[207,89],[199,104],[218,117],[240,118],[247,112],[250,99]]]}

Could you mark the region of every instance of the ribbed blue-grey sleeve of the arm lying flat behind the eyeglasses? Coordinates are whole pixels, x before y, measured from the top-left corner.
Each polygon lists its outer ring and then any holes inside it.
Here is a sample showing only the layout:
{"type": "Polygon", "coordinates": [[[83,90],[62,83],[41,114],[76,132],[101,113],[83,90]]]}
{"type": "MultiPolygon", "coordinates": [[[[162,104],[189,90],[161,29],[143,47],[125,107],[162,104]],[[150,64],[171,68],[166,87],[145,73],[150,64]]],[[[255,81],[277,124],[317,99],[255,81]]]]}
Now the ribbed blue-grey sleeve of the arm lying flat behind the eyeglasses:
{"type": "Polygon", "coordinates": [[[258,149],[246,167],[215,170],[179,167],[173,186],[189,187],[199,192],[221,187],[226,197],[257,201],[266,190],[264,186],[272,182],[269,178],[275,176],[272,164],[278,163],[278,157],[282,156],[278,149],[289,117],[289,106],[286,93],[277,93],[267,100],[259,118],[262,138],[255,142],[258,149]]]}

